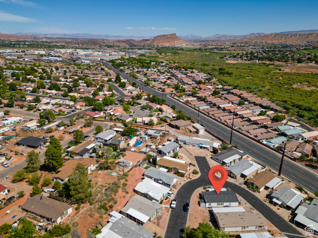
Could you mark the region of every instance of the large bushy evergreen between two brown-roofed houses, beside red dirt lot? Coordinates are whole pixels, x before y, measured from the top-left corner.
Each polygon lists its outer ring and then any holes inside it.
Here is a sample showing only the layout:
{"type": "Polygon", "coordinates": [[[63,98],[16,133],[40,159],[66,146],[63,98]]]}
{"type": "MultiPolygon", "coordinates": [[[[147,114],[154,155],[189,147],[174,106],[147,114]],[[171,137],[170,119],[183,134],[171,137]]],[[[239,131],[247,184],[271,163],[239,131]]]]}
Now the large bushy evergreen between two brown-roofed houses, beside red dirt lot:
{"type": "Polygon", "coordinates": [[[61,194],[70,197],[73,202],[87,202],[92,197],[92,191],[89,191],[91,183],[87,182],[87,178],[86,167],[84,164],[78,163],[68,180],[63,183],[61,194]]]}

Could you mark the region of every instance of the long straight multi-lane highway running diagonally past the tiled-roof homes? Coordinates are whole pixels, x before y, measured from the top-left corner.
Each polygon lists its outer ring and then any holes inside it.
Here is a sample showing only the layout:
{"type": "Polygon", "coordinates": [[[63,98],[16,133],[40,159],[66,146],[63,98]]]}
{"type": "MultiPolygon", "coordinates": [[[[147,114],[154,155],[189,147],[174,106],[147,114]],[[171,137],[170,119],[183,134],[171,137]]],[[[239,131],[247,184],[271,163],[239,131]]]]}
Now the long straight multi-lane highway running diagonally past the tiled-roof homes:
{"type": "MultiPolygon", "coordinates": [[[[110,64],[105,63],[107,67],[114,70],[114,72],[119,72],[118,70],[114,69],[110,64]]],[[[120,72],[121,76],[127,78],[127,74],[120,72]]],[[[140,81],[136,80],[128,76],[128,80],[130,82],[140,83],[140,81]]],[[[138,86],[138,87],[141,87],[138,86]]],[[[152,95],[156,95],[158,97],[162,97],[162,93],[149,87],[143,87],[145,92],[150,92],[152,95]]],[[[183,103],[175,100],[168,95],[163,94],[163,99],[166,100],[168,105],[176,105],[176,110],[182,110],[187,116],[190,116],[192,119],[197,121],[198,112],[195,109],[191,109],[190,107],[184,105],[183,103]]],[[[204,123],[206,125],[205,128],[213,132],[214,134],[218,135],[222,139],[226,141],[230,141],[231,130],[228,127],[223,126],[222,124],[211,120],[210,118],[202,115],[200,113],[199,116],[199,123],[204,123]]],[[[255,159],[259,160],[260,162],[266,164],[271,169],[276,171],[279,170],[280,167],[280,158],[281,155],[278,153],[273,152],[272,150],[267,149],[266,147],[260,145],[257,142],[254,142],[248,139],[245,136],[242,136],[235,131],[233,131],[232,137],[232,145],[237,145],[239,149],[244,150],[246,153],[254,157],[255,159]]],[[[303,188],[309,190],[310,192],[318,191],[318,175],[312,173],[308,169],[285,159],[283,163],[282,169],[282,177],[288,178],[289,180],[300,184],[303,188]]]]}

